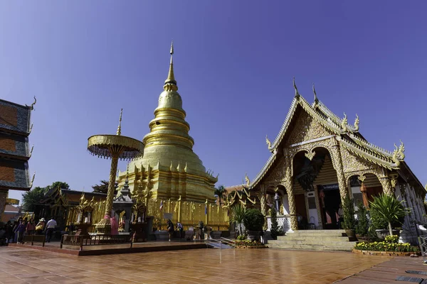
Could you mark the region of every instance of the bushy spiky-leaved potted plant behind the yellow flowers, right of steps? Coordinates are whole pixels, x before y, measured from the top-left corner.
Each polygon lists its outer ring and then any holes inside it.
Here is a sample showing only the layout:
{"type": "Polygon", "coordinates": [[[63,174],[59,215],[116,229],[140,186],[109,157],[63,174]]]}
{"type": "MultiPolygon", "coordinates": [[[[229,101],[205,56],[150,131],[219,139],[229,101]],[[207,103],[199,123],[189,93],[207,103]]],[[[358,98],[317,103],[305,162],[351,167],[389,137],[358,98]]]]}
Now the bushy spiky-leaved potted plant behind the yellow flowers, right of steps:
{"type": "Polygon", "coordinates": [[[399,230],[393,230],[393,227],[400,226],[406,214],[411,212],[409,208],[404,206],[404,201],[399,201],[391,195],[381,194],[374,197],[374,200],[369,202],[369,206],[371,209],[371,226],[376,229],[381,239],[384,239],[382,231],[387,231],[387,229],[390,236],[398,235],[399,230]]]}

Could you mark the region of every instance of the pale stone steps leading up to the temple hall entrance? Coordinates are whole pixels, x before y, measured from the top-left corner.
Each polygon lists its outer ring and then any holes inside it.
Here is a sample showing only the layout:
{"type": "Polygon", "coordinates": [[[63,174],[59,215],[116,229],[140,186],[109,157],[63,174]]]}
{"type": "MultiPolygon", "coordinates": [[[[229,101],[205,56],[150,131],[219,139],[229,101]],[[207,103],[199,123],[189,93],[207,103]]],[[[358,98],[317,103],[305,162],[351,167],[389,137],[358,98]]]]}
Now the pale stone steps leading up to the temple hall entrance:
{"type": "Polygon", "coordinates": [[[272,249],[300,249],[307,251],[352,251],[357,239],[350,239],[344,230],[298,230],[269,240],[272,249]]]}

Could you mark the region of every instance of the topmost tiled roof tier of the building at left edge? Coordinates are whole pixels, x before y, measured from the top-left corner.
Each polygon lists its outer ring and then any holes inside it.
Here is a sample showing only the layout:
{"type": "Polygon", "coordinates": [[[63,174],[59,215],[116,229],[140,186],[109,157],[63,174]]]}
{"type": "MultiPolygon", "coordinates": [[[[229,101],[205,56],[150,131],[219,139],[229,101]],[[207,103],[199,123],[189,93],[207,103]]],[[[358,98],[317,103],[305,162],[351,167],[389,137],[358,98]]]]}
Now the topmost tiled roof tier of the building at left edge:
{"type": "Polygon", "coordinates": [[[0,129],[28,134],[30,115],[29,107],[0,99],[0,129]]]}

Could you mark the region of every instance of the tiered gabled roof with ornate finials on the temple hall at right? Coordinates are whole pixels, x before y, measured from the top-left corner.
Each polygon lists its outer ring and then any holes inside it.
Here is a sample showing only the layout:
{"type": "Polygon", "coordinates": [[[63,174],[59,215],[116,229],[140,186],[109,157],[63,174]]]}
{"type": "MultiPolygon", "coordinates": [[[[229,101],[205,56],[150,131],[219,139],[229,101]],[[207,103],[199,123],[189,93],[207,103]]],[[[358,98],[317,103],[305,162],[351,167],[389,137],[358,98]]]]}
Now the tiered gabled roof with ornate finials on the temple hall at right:
{"type": "MultiPolygon", "coordinates": [[[[258,182],[263,179],[263,177],[268,173],[268,170],[274,165],[275,160],[278,158],[278,148],[280,144],[283,143],[286,133],[288,133],[288,129],[290,128],[292,119],[295,117],[295,113],[299,110],[307,112],[307,114],[318,121],[325,129],[327,129],[327,131],[330,131],[337,137],[340,146],[347,148],[347,150],[354,155],[389,170],[399,170],[401,168],[405,158],[403,143],[401,143],[401,146],[399,147],[395,145],[396,149],[394,152],[386,151],[384,148],[380,148],[369,143],[359,133],[359,117],[357,115],[354,124],[349,124],[345,114],[344,118],[340,118],[334,114],[325,106],[325,104],[317,99],[316,94],[315,102],[310,104],[297,92],[295,84],[294,87],[295,97],[292,99],[290,109],[278,135],[273,143],[270,143],[267,139],[268,149],[272,154],[260,172],[252,180],[250,185],[247,186],[248,188],[253,188],[258,185],[258,182]]],[[[313,91],[315,92],[314,88],[313,91]]]]}

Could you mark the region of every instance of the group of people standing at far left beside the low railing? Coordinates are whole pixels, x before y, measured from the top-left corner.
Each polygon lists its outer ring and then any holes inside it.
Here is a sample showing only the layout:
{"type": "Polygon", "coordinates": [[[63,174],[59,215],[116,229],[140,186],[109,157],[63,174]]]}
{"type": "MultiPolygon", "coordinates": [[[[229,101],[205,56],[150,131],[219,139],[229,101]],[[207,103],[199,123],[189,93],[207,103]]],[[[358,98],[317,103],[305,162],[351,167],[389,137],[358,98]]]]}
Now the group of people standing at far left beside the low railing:
{"type": "Polygon", "coordinates": [[[18,221],[14,223],[8,221],[6,224],[0,226],[0,244],[20,244],[22,243],[23,236],[30,236],[33,234],[46,234],[46,241],[50,242],[56,225],[56,221],[53,217],[47,223],[44,218],[41,218],[37,224],[34,222],[33,218],[28,220],[27,218],[19,217],[18,221]]]}

